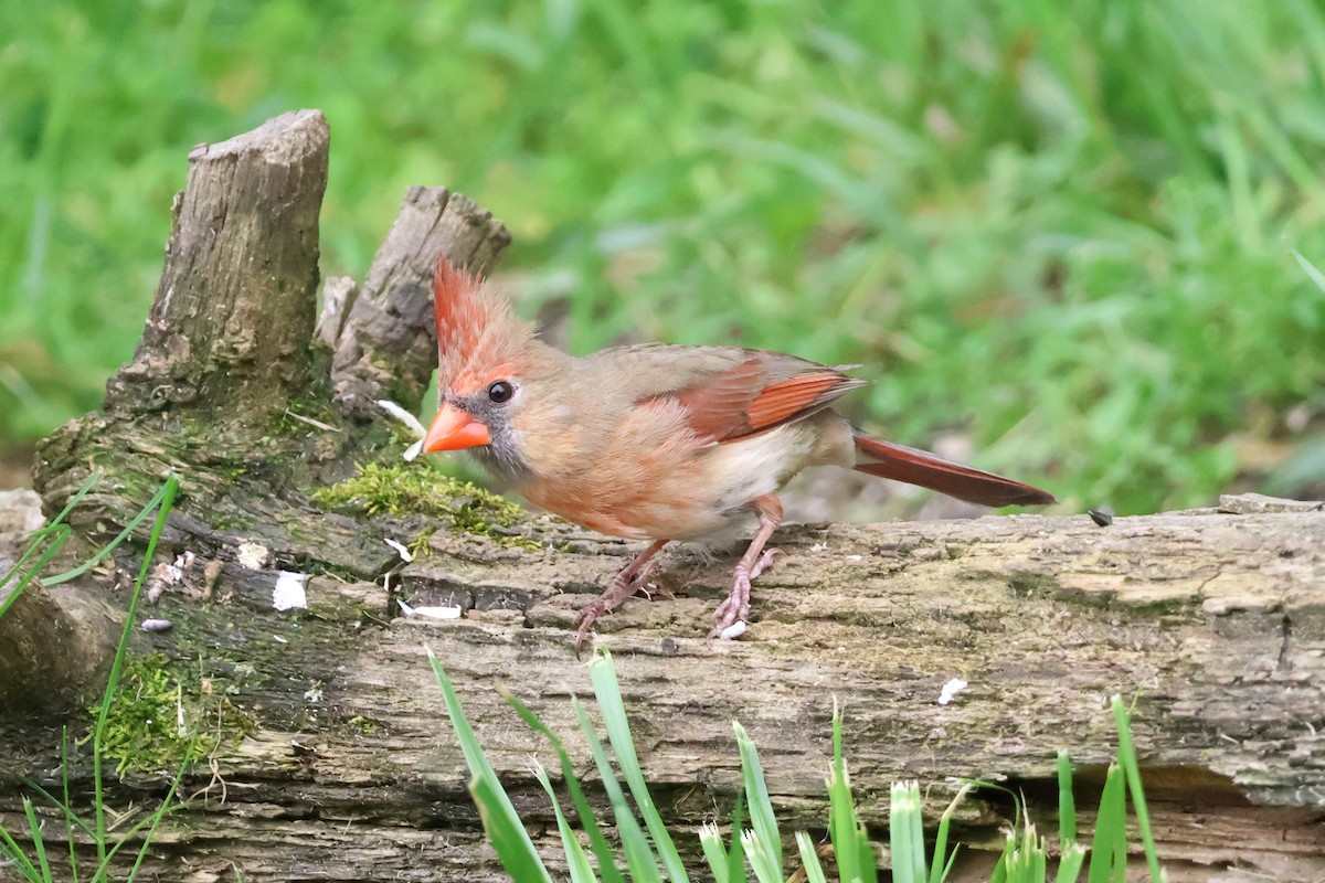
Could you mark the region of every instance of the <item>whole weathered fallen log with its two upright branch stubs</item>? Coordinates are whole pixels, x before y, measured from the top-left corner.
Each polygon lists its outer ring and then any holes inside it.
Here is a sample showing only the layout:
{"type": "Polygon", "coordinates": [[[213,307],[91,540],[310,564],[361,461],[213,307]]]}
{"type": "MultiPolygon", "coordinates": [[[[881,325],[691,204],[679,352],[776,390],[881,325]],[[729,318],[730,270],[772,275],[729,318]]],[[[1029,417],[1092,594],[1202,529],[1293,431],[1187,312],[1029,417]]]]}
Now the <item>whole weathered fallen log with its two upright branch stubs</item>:
{"type": "MultiPolygon", "coordinates": [[[[419,404],[433,359],[436,257],[486,267],[509,241],[458,195],[413,188],[362,293],[329,285],[314,322],[326,155],[314,111],[191,155],[143,343],[111,381],[106,409],[42,445],[36,487],[50,515],[102,470],[70,519],[86,551],[118,532],[163,474],[183,477],[164,541],[168,555],[195,559],[148,612],[174,627],[140,634],[135,650],[159,654],[146,658],[200,695],[224,696],[224,708],[201,721],[216,748],[186,777],[189,800],[159,829],[147,874],[505,879],[484,845],[424,646],[456,682],[535,841],[551,847],[555,825],[529,761],[547,761],[546,747],[494,684],[570,737],[570,696],[591,692],[571,616],[639,547],[546,516],[432,532],[436,523],[420,516],[356,519],[309,503],[355,462],[399,457],[404,445],[370,402],[419,404]],[[384,368],[396,363],[399,373],[384,368]],[[387,539],[425,553],[401,565],[387,539]],[[306,608],[276,609],[281,571],[309,575],[306,608]],[[462,616],[403,618],[401,594],[462,616]]],[[[902,777],[931,786],[931,810],[946,805],[947,777],[1002,778],[1048,822],[1056,749],[1084,767],[1079,801],[1089,808],[1089,784],[1114,745],[1108,698],[1121,694],[1136,699],[1170,879],[1325,875],[1318,506],[1230,498],[1218,510],[1109,527],[1084,515],[799,526],[776,543],[783,553],[755,586],[742,641],[705,639],[731,560],[684,549],[659,571],[655,600],[600,624],[641,763],[676,830],[730,810],[738,719],[759,745],[783,829],[822,833],[835,696],[852,784],[881,841],[889,784],[902,777]],[[953,678],[969,686],[939,704],[953,678]]],[[[119,563],[130,567],[132,555],[119,563]]],[[[0,620],[5,680],[48,684],[65,707],[78,688],[99,691],[89,661],[105,658],[114,630],[103,621],[122,610],[114,576],[20,598],[36,613],[0,620]],[[76,642],[60,654],[32,653],[30,626],[13,625],[61,617],[69,627],[40,635],[76,642]],[[78,663],[56,667],[61,658],[78,663]]],[[[0,688],[0,822],[9,830],[23,827],[28,778],[60,781],[60,719],[30,694],[0,688]]],[[[572,753],[588,767],[587,751],[572,753]]],[[[85,755],[76,752],[70,773],[85,806],[85,755]]],[[[109,800],[143,806],[167,780],[127,773],[109,800]]],[[[42,812],[57,830],[56,810],[42,812]]],[[[996,798],[967,805],[955,837],[971,849],[955,879],[987,868],[1010,812],[996,798]]],[[[682,847],[698,860],[693,837],[682,847]]]]}

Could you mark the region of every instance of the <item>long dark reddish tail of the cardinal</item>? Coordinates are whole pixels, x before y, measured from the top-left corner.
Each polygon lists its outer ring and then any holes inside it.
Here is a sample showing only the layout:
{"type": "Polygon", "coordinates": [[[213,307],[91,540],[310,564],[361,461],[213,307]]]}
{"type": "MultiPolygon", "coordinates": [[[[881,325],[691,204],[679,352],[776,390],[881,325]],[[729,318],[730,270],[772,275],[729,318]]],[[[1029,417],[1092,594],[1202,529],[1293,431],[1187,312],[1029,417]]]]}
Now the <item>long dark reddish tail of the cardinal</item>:
{"type": "Polygon", "coordinates": [[[852,428],[856,471],[892,478],[980,506],[1039,506],[1056,503],[1053,494],[994,473],[954,463],[929,451],[894,445],[852,428]]]}

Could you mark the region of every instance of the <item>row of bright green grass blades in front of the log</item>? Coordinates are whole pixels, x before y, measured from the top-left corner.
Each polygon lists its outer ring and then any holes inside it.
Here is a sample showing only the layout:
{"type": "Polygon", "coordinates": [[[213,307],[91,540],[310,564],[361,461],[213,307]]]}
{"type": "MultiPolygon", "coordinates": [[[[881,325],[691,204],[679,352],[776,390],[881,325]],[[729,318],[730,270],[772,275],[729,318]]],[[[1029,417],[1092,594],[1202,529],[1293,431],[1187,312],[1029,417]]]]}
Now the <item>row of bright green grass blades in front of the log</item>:
{"type": "MultiPolygon", "coordinates": [[[[551,880],[533,838],[521,822],[510,798],[473,728],[465,719],[460,698],[447,676],[445,669],[428,649],[428,659],[441,688],[447,714],[456,729],[461,752],[469,767],[472,780],[470,794],[478,806],[484,830],[497,851],[497,855],[511,879],[551,880]]],[[[616,831],[620,838],[620,854],[615,853],[600,827],[583,788],[571,767],[570,756],[562,740],[553,733],[519,699],[502,691],[506,702],[529,727],[543,735],[556,752],[566,782],[575,806],[576,815],[590,849],[586,850],[579,834],[571,827],[558,802],[553,782],[541,764],[535,765],[535,777],[547,792],[556,817],[558,833],[572,883],[624,883],[627,879],[637,883],[685,883],[689,874],[676,849],[672,833],[662,821],[648,793],[644,772],[635,753],[625,706],[621,700],[616,669],[611,654],[595,649],[590,663],[590,676],[594,695],[598,699],[603,725],[607,729],[616,767],[608,757],[598,731],[576,699],[572,699],[580,731],[594,756],[599,777],[612,808],[616,831]],[[625,778],[631,801],[621,789],[620,776],[625,778]],[[640,825],[643,821],[643,827],[640,825]],[[648,831],[648,834],[645,834],[648,831]],[[592,854],[598,868],[590,860],[592,854]],[[624,870],[621,867],[624,859],[624,870]]],[[[1137,826],[1145,847],[1150,879],[1166,879],[1159,867],[1146,812],[1145,794],[1141,786],[1140,767],[1132,743],[1130,719],[1121,698],[1113,698],[1113,715],[1118,727],[1118,759],[1108,772],[1096,833],[1090,849],[1077,841],[1076,804],[1072,797],[1072,765],[1065,752],[1059,755],[1059,834],[1060,855],[1056,883],[1071,883],[1080,879],[1083,868],[1088,883],[1108,883],[1122,879],[1128,858],[1126,792],[1132,793],[1132,805],[1137,815],[1137,826]],[[1089,862],[1088,862],[1089,859],[1089,862]]],[[[745,883],[746,868],[754,872],[758,883],[782,883],[787,879],[783,837],[778,827],[772,801],[765,784],[763,768],[758,751],[750,736],[734,724],[737,748],[741,755],[742,794],[737,801],[731,818],[730,846],[723,843],[721,830],[716,823],[700,829],[700,847],[709,872],[717,883],[745,883]],[[749,813],[749,827],[745,826],[749,813]]],[[[832,723],[833,759],[828,774],[828,822],[827,831],[831,843],[833,864],[840,883],[874,883],[878,879],[878,857],[869,839],[865,825],[856,812],[847,774],[847,763],[841,749],[841,712],[833,707],[832,723]]],[[[991,786],[967,782],[958,792],[939,819],[933,850],[926,849],[924,814],[920,785],[917,782],[897,782],[892,790],[889,812],[889,846],[892,855],[892,879],[894,883],[942,883],[957,858],[957,849],[947,851],[949,826],[958,804],[977,786],[991,786]]],[[[1039,835],[1028,814],[1016,802],[1018,821],[1008,831],[1007,842],[994,868],[991,883],[1045,883],[1048,880],[1049,853],[1044,837],[1039,835]]],[[[799,874],[808,883],[827,883],[828,876],[820,862],[824,850],[816,849],[807,831],[796,831],[796,858],[799,874]]]]}

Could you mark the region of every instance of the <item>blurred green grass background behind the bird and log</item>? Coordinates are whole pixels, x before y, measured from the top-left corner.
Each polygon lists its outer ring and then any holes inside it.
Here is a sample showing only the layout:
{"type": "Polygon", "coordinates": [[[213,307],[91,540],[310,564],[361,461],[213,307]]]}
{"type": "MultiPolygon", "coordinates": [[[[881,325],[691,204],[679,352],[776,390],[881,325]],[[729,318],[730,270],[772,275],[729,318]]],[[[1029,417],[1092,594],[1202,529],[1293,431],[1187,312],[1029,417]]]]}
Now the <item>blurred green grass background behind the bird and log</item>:
{"type": "Polygon", "coordinates": [[[447,184],[574,351],[861,363],[869,429],[1069,504],[1206,503],[1325,422],[1310,0],[9,1],[0,34],[0,442],[131,356],[188,148],[295,107],[333,127],[325,274],[447,184]]]}

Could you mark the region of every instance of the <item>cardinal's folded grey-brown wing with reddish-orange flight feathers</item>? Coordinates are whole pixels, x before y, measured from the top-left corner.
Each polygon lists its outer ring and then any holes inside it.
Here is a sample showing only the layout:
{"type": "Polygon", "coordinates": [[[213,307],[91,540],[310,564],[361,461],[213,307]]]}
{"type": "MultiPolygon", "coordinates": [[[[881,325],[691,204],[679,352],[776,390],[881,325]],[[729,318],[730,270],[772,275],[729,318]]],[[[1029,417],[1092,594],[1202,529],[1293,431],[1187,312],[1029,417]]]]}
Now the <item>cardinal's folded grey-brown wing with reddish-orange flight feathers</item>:
{"type": "Polygon", "coordinates": [[[635,400],[672,398],[702,438],[731,442],[803,420],[868,381],[796,356],[737,347],[621,347],[635,400]]]}

